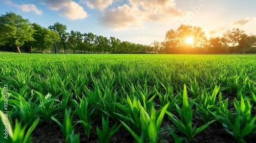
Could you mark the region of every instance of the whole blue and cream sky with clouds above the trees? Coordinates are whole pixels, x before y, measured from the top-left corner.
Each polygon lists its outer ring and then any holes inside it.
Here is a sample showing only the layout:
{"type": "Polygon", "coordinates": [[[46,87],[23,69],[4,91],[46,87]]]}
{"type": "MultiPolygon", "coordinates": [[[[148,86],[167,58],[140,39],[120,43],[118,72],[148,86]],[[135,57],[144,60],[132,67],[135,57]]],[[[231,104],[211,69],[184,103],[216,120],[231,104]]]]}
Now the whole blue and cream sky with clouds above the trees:
{"type": "Polygon", "coordinates": [[[59,22],[68,32],[151,44],[181,24],[201,27],[207,38],[233,28],[256,34],[255,6],[254,0],[0,0],[0,14],[15,12],[46,28],[59,22]]]}

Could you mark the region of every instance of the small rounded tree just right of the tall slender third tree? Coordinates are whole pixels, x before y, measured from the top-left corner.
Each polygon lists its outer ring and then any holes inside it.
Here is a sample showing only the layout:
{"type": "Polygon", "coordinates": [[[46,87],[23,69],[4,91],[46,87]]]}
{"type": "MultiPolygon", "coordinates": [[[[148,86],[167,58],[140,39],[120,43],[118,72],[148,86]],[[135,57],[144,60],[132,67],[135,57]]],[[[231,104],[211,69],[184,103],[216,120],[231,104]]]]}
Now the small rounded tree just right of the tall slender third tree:
{"type": "Polygon", "coordinates": [[[73,53],[75,54],[76,48],[81,44],[82,42],[82,33],[79,31],[71,31],[69,34],[68,42],[73,47],[73,53]]]}

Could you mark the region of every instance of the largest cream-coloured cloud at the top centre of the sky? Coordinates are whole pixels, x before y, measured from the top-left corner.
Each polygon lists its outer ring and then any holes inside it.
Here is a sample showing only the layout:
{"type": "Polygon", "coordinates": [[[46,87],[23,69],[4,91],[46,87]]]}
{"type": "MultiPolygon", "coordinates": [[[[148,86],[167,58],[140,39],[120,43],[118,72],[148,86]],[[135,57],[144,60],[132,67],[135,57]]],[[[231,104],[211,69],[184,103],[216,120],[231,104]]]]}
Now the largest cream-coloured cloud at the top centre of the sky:
{"type": "Polygon", "coordinates": [[[129,0],[129,5],[106,11],[100,20],[104,25],[114,28],[138,26],[148,21],[168,21],[184,15],[184,12],[177,8],[175,1],[129,0]]]}

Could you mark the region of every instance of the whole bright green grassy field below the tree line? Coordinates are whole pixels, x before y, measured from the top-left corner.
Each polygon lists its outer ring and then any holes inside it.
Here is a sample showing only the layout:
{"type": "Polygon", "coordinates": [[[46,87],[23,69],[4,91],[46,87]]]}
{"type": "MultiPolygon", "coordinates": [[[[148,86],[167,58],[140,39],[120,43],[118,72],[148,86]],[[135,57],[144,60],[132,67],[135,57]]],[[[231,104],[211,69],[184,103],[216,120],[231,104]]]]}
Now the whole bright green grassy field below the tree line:
{"type": "Polygon", "coordinates": [[[256,139],[256,55],[0,57],[0,142],[256,139]]]}

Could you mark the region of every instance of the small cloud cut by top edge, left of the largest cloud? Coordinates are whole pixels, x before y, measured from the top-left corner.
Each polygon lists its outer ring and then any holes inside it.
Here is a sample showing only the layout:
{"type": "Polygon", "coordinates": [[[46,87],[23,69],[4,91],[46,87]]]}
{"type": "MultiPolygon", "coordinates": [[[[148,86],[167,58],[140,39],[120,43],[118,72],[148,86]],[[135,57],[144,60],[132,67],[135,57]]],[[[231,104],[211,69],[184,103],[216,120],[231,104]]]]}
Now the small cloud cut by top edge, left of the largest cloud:
{"type": "Polygon", "coordinates": [[[90,9],[98,8],[100,11],[103,11],[117,1],[118,0],[80,0],[80,3],[87,4],[90,9]]]}

